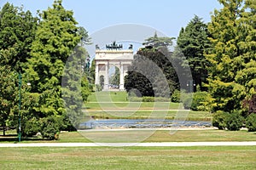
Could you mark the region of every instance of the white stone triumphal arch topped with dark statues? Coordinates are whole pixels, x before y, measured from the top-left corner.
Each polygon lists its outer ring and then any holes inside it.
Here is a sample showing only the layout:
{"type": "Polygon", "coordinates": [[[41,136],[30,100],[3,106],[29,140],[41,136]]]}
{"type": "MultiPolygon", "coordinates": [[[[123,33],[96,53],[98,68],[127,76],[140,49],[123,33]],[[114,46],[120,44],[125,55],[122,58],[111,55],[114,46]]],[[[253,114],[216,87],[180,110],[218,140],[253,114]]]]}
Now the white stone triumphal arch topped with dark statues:
{"type": "Polygon", "coordinates": [[[128,66],[133,60],[132,45],[128,49],[123,49],[122,44],[113,42],[107,44],[105,49],[101,49],[96,45],[96,74],[95,84],[101,84],[102,90],[108,91],[112,88],[109,83],[109,69],[111,66],[119,68],[119,90],[125,90],[125,76],[128,71],[128,66]]]}

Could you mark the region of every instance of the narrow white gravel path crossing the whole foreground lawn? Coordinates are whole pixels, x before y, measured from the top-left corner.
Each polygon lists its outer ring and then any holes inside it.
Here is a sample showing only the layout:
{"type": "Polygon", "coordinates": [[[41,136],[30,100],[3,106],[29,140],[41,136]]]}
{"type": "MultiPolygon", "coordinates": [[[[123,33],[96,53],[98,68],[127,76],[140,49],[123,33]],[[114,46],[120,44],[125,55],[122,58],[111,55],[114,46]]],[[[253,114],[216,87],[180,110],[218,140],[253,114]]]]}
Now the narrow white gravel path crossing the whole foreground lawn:
{"type": "Polygon", "coordinates": [[[256,141],[244,142],[160,142],[160,143],[30,143],[0,144],[1,147],[96,147],[96,146],[255,146],[256,141]]]}

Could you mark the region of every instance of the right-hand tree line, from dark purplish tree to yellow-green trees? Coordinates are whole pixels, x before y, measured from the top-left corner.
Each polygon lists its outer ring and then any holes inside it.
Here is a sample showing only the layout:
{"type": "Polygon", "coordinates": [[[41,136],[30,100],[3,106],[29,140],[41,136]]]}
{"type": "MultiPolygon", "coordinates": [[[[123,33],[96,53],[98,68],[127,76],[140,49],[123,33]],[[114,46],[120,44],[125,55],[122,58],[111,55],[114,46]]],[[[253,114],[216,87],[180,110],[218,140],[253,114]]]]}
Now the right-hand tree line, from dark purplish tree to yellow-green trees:
{"type": "Polygon", "coordinates": [[[187,109],[211,111],[212,124],[220,129],[238,130],[246,123],[249,131],[255,131],[255,3],[218,2],[223,8],[213,11],[209,23],[195,15],[181,29],[173,51],[168,49],[173,38],[155,34],[146,39],[125,77],[125,89],[137,88],[136,95],[183,100],[187,109]],[[164,78],[155,74],[147,59],[160,68],[164,78]],[[193,92],[194,99],[180,99],[183,92],[193,92]]]}

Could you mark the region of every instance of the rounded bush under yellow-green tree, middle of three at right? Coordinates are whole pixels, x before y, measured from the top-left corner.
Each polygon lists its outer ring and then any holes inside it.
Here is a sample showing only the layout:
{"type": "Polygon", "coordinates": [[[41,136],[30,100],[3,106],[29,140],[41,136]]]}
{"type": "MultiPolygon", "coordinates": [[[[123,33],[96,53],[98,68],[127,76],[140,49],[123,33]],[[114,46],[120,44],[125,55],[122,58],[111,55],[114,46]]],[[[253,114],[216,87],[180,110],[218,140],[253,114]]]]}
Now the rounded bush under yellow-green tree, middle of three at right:
{"type": "Polygon", "coordinates": [[[233,111],[226,117],[225,124],[228,130],[236,131],[242,127],[244,118],[241,116],[240,111],[233,111]]]}

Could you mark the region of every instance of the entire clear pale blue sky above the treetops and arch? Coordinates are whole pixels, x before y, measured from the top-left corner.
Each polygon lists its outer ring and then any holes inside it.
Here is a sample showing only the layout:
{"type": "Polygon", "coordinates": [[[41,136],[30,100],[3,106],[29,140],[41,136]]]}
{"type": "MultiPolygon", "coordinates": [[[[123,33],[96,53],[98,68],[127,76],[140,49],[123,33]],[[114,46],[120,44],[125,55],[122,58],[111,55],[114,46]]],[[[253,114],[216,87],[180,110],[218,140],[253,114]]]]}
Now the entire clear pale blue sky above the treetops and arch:
{"type": "MultiPolygon", "coordinates": [[[[0,0],[0,8],[7,2],[23,5],[24,10],[37,15],[38,10],[52,7],[54,0],[0,0]]],[[[85,48],[91,58],[96,44],[105,48],[116,41],[128,48],[131,43],[136,53],[154,32],[159,37],[177,38],[195,14],[207,23],[214,9],[221,8],[218,0],[62,0],[62,5],[72,10],[79,26],[89,32],[92,44],[85,48]]]]}

